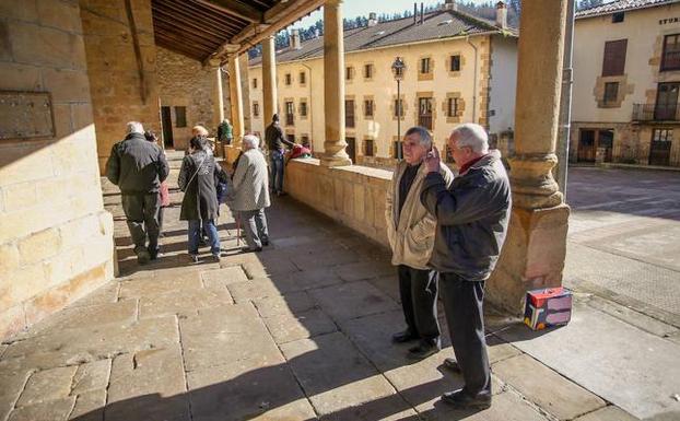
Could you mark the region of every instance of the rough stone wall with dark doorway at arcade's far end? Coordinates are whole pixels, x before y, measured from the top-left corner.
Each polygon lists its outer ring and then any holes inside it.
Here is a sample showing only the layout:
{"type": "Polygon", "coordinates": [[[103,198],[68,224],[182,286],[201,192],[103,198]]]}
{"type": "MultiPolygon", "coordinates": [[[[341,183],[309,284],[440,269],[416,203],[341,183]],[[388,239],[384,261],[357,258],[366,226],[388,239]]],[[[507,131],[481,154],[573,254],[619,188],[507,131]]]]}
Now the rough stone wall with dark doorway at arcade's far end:
{"type": "MultiPolygon", "coordinates": [[[[203,67],[200,61],[156,48],[156,67],[161,106],[169,106],[173,119],[173,138],[175,149],[186,149],[191,138],[191,127],[206,126],[211,136],[216,136],[218,117],[214,113],[213,79],[215,68],[203,67]],[[175,107],[187,107],[187,126],[176,127],[175,107]]],[[[222,73],[222,93],[224,97],[224,115],[230,118],[228,77],[222,73]]]]}

